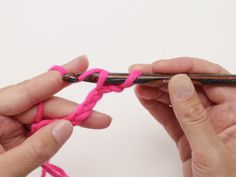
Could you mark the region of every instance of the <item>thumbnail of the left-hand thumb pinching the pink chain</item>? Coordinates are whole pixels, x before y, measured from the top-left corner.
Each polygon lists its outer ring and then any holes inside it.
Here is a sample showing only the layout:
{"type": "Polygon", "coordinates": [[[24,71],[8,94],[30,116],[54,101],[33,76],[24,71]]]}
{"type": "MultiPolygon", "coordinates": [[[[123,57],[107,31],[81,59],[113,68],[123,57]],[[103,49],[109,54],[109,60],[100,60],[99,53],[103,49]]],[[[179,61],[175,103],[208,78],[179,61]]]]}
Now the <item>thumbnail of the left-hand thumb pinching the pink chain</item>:
{"type": "Polygon", "coordinates": [[[62,145],[70,137],[72,129],[72,124],[69,121],[62,120],[54,125],[52,129],[52,135],[55,138],[56,142],[59,145],[62,145]]]}

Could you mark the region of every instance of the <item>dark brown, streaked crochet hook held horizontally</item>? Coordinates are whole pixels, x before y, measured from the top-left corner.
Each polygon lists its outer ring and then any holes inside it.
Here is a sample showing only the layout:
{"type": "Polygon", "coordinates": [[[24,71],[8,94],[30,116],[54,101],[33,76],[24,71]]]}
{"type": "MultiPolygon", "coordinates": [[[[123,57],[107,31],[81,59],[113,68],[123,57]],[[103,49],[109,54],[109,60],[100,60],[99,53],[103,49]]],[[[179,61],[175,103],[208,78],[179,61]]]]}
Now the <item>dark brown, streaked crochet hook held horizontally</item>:
{"type": "MultiPolygon", "coordinates": [[[[78,82],[78,77],[82,73],[68,73],[62,79],[69,83],[78,82]]],[[[168,83],[171,77],[175,74],[142,74],[134,84],[162,85],[168,83]]],[[[236,85],[236,74],[187,74],[195,84],[219,84],[219,85],[236,85]]],[[[118,85],[122,84],[129,73],[110,73],[105,81],[105,84],[118,85]]],[[[84,81],[96,83],[99,74],[94,73],[88,76],[84,81]]]]}

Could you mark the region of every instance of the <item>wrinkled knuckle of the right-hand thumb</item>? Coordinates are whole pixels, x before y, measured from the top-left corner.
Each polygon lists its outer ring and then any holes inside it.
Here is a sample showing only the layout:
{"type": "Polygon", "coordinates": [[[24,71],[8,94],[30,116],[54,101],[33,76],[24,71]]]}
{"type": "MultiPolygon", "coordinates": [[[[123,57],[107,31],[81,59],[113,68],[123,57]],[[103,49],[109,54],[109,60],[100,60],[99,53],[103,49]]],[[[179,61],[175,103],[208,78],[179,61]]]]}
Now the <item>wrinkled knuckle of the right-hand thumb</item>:
{"type": "Polygon", "coordinates": [[[207,122],[207,112],[202,105],[190,105],[183,112],[183,118],[187,124],[202,125],[207,122]]]}

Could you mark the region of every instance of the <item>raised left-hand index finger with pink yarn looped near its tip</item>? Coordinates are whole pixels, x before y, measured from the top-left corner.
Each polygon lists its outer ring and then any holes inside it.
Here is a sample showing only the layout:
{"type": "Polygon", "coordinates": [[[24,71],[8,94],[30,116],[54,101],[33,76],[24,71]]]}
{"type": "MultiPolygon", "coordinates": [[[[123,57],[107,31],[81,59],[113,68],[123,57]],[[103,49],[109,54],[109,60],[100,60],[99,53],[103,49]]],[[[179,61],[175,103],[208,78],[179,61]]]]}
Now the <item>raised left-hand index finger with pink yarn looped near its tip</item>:
{"type": "MultiPolygon", "coordinates": [[[[88,67],[88,61],[85,56],[81,56],[63,67],[68,72],[83,72],[88,67]]],[[[0,90],[0,114],[19,114],[67,85],[57,71],[48,71],[29,81],[3,88],[0,90]]]]}

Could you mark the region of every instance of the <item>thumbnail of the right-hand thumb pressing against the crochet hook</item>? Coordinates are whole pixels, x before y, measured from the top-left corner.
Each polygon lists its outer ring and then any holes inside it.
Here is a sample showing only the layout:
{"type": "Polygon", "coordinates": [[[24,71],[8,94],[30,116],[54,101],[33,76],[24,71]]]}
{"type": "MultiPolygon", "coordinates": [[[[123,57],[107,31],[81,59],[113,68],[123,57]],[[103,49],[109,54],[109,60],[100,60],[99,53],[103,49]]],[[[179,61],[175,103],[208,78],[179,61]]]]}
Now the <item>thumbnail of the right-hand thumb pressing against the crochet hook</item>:
{"type": "Polygon", "coordinates": [[[172,78],[174,94],[180,100],[187,100],[193,95],[194,86],[186,74],[179,74],[172,78]]]}

